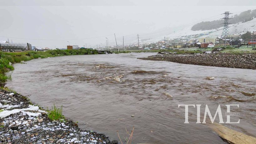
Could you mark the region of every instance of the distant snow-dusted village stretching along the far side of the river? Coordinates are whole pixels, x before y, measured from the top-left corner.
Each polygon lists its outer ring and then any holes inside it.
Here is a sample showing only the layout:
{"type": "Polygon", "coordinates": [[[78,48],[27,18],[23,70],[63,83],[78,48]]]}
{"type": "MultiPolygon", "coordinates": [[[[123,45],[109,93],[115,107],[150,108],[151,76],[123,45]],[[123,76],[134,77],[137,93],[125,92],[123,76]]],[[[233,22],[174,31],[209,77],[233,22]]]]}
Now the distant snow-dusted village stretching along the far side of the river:
{"type": "MultiPolygon", "coordinates": [[[[247,32],[248,33],[248,32],[247,32]]],[[[229,43],[230,46],[238,48],[242,45],[250,45],[252,44],[252,40],[243,38],[242,34],[232,34],[228,35],[228,39],[220,38],[220,37],[203,37],[204,34],[193,34],[193,35],[186,35],[181,36],[180,38],[175,39],[163,39],[158,42],[154,43],[143,43],[138,45],[137,44],[126,44],[126,45],[118,45],[120,50],[158,50],[158,49],[185,49],[185,48],[213,48],[222,44],[223,41],[229,43]],[[200,37],[200,38],[199,38],[200,37]],[[139,47],[138,47],[139,46],[139,47]]],[[[142,40],[141,40],[142,41],[142,40]]],[[[253,40],[254,44],[256,40],[253,40]]],[[[34,51],[46,51],[53,48],[40,48],[38,46],[33,46],[29,43],[12,43],[9,42],[9,39],[4,41],[0,41],[0,50],[6,52],[18,52],[18,51],[27,51],[27,50],[34,50],[34,51]]],[[[97,50],[110,50],[114,51],[117,50],[116,45],[109,45],[109,46],[93,46],[93,47],[79,47],[77,45],[67,45],[66,48],[54,48],[54,49],[97,49],[97,50]]]]}

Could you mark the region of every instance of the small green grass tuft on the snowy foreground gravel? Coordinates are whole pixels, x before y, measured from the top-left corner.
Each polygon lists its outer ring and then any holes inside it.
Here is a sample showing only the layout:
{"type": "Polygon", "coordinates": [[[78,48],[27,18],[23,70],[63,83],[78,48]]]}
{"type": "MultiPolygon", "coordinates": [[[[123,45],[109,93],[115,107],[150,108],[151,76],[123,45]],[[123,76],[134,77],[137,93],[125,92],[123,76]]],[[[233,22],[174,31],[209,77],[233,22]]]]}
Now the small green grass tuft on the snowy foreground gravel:
{"type": "Polygon", "coordinates": [[[55,105],[53,105],[52,109],[48,110],[48,117],[52,121],[65,119],[65,117],[62,115],[62,105],[60,108],[57,108],[55,105]]]}

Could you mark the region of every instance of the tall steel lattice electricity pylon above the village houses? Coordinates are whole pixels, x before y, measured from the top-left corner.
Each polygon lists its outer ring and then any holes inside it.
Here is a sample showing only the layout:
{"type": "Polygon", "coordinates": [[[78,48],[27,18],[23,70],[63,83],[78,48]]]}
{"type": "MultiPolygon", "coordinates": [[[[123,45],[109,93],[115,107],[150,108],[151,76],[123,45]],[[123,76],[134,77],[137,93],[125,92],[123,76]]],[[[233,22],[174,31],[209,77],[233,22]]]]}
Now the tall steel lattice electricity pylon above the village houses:
{"type": "MultiPolygon", "coordinates": [[[[227,35],[228,35],[228,20],[229,19],[232,19],[232,18],[229,18],[229,14],[232,14],[232,13],[229,13],[229,12],[225,12],[225,13],[222,13],[222,14],[225,14],[225,17],[224,18],[221,18],[221,19],[224,19],[224,28],[223,28],[223,32],[222,32],[222,35],[221,35],[221,39],[224,38],[224,40],[222,41],[222,43],[219,45],[219,47],[225,43],[225,48],[227,45],[230,45],[229,42],[227,42],[227,35]]],[[[231,46],[231,45],[230,45],[231,46]]]]}

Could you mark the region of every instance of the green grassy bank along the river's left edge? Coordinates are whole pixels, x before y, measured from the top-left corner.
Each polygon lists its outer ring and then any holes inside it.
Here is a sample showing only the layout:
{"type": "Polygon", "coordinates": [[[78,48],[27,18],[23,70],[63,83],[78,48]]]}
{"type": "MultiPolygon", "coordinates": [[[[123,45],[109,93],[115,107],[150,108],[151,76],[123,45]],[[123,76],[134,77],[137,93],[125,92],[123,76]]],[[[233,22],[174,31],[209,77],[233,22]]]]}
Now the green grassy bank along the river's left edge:
{"type": "Polygon", "coordinates": [[[43,51],[24,51],[24,52],[2,52],[0,51],[0,83],[6,82],[11,79],[10,75],[6,75],[6,72],[13,70],[13,66],[10,63],[19,63],[21,61],[28,61],[37,58],[48,58],[64,55],[84,55],[84,54],[99,54],[97,50],[91,49],[66,49],[66,50],[47,50],[43,51]]]}

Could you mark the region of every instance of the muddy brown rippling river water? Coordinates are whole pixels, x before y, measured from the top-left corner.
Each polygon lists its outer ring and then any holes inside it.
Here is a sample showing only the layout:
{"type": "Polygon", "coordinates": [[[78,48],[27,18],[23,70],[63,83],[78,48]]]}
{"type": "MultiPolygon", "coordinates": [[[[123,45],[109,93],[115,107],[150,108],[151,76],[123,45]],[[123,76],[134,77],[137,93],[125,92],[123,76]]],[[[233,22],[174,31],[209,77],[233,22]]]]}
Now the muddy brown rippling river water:
{"type": "Polygon", "coordinates": [[[201,104],[201,119],[206,104],[212,116],[220,104],[224,122],[225,105],[239,104],[231,112],[240,116],[231,121],[240,123],[224,126],[256,137],[256,97],[247,94],[256,93],[256,70],[137,59],[154,54],[34,59],[14,64],[6,86],[45,109],[63,105],[65,117],[110,140],[119,141],[119,131],[125,142],[125,128],[131,132],[134,126],[132,143],[225,143],[207,125],[196,124],[192,106],[185,124],[185,107],[179,104],[201,104]]]}

